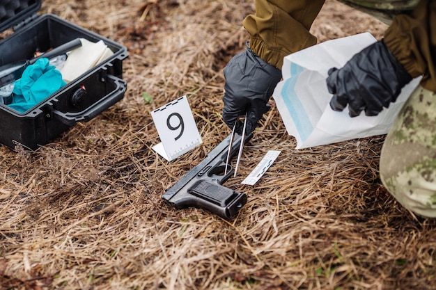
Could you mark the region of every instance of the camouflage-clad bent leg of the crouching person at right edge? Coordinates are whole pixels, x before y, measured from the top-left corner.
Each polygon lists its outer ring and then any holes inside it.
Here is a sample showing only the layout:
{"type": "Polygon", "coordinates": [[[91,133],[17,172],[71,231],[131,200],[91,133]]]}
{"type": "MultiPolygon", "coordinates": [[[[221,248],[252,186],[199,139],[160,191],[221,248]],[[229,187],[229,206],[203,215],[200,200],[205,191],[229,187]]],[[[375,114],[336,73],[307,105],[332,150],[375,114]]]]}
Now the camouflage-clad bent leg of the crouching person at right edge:
{"type": "Polygon", "coordinates": [[[436,218],[436,92],[419,86],[384,141],[380,178],[415,214],[436,218]]]}

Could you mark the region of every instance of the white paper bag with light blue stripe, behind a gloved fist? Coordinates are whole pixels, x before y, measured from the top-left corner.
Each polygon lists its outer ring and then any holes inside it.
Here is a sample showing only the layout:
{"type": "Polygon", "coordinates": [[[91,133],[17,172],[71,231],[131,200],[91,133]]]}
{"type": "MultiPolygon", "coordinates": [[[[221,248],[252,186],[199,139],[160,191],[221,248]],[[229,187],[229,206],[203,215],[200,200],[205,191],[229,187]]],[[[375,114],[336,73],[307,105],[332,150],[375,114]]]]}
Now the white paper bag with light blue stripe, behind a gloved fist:
{"type": "Polygon", "coordinates": [[[296,149],[336,143],[354,138],[387,134],[400,108],[419,83],[405,86],[396,102],[377,116],[350,118],[348,107],[342,112],[329,106],[332,95],[326,79],[332,67],[343,67],[353,55],[375,42],[371,33],[322,42],[286,56],[281,81],[274,100],[288,134],[297,140],[296,149]]]}

